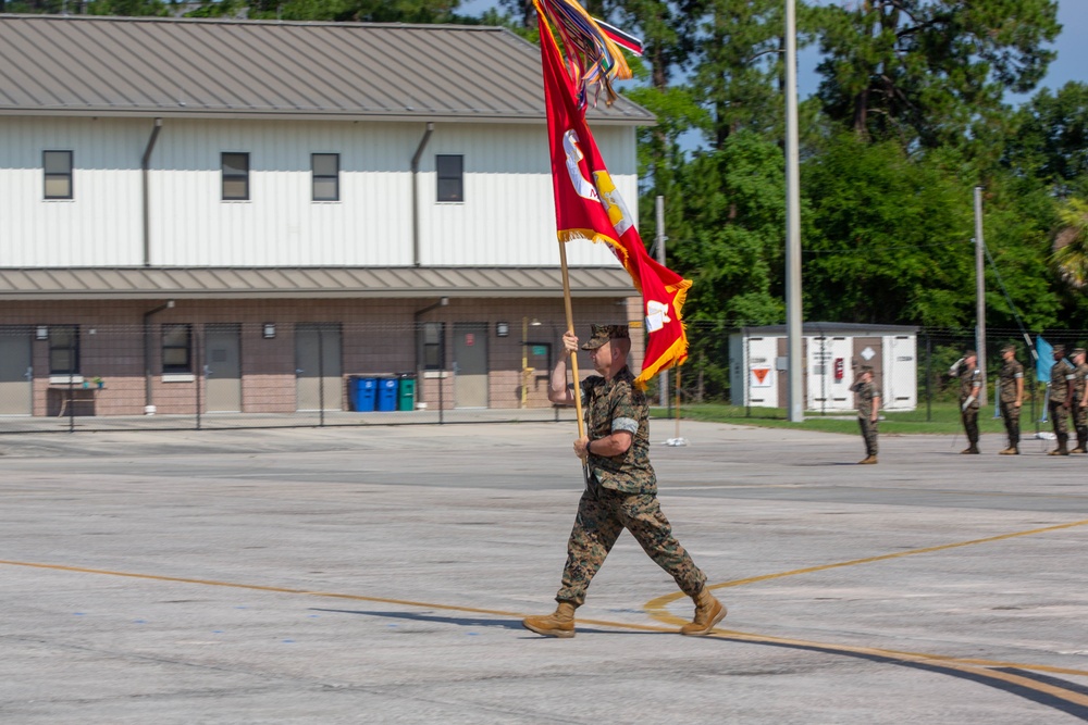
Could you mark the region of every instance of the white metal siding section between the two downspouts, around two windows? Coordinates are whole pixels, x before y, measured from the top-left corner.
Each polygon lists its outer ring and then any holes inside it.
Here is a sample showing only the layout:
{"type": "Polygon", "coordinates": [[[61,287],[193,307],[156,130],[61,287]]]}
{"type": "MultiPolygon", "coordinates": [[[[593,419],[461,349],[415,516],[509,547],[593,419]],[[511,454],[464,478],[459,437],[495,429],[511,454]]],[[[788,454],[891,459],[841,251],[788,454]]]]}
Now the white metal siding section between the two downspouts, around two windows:
{"type": "Polygon", "coordinates": [[[407,265],[409,165],[422,125],[170,122],[153,167],[152,263],[407,265]],[[220,154],[249,153],[250,200],[220,199],[220,154]],[[310,200],[310,154],[341,154],[341,200],[310,200]]]}

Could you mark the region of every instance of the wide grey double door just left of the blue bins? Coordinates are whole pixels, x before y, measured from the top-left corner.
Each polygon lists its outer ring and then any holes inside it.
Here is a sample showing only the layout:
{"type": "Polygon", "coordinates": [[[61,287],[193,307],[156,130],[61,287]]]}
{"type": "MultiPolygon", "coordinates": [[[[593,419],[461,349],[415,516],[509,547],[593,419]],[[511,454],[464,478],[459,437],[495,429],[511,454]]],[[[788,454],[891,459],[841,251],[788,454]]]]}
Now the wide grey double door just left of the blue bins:
{"type": "Polygon", "coordinates": [[[342,384],[339,325],[299,323],[295,327],[296,409],[341,410],[342,384]]]}

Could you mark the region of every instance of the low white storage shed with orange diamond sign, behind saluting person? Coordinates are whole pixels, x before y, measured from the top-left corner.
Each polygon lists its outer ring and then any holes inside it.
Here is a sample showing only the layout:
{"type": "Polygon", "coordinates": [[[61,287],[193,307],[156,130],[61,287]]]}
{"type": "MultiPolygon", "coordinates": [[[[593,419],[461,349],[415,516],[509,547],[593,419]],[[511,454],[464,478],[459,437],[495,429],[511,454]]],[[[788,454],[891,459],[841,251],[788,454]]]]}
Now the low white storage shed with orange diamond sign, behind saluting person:
{"type": "MultiPolygon", "coordinates": [[[[881,409],[917,407],[917,327],[806,322],[802,334],[806,410],[854,410],[850,388],[863,365],[873,367],[881,409]]],[[[733,405],[786,407],[784,325],[743,327],[729,336],[729,383],[733,405]]]]}

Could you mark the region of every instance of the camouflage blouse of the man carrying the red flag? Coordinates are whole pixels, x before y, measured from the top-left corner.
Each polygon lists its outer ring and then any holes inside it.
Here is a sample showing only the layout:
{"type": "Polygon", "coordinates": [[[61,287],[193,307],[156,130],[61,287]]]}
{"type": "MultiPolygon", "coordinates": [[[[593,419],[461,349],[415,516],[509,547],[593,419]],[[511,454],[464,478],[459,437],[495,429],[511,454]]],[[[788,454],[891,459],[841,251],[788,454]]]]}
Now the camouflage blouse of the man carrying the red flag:
{"type": "Polygon", "coordinates": [[[589,465],[604,488],[626,493],[656,493],[657,477],[650,465],[650,403],[634,386],[634,375],[625,367],[611,380],[591,375],[582,382],[582,405],[590,440],[618,430],[632,436],[626,453],[615,457],[590,454],[589,465]]]}

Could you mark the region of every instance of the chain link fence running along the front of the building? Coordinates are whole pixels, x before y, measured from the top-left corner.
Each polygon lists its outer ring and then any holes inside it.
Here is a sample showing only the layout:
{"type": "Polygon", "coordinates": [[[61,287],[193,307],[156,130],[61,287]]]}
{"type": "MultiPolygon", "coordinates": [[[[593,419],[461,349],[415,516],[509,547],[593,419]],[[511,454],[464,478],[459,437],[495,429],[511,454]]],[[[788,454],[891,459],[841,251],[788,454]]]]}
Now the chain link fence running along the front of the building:
{"type": "MultiPolygon", "coordinates": [[[[573,421],[572,409],[547,400],[565,326],[529,317],[521,325],[0,326],[0,434],[573,421]]],[[[651,382],[651,403],[670,416],[677,404],[681,412],[728,407],[735,332],[727,323],[689,323],[689,362],[679,380],[671,371],[667,382],[651,382]]],[[[1041,336],[1067,347],[1088,339],[1088,333],[1070,330],[1041,336]]],[[[1046,387],[1036,382],[1036,363],[1019,330],[987,333],[988,404],[994,405],[1000,351],[1010,341],[1018,346],[1026,372],[1025,412],[1038,420],[1046,387]]],[[[900,420],[929,421],[935,404],[954,400],[959,382],[948,375],[949,366],[975,346],[974,330],[920,329],[917,405],[899,413],[900,420]]],[[[592,372],[584,357],[580,362],[583,375],[592,372]]],[[[734,413],[784,414],[781,407],[734,413]]]]}

